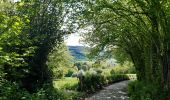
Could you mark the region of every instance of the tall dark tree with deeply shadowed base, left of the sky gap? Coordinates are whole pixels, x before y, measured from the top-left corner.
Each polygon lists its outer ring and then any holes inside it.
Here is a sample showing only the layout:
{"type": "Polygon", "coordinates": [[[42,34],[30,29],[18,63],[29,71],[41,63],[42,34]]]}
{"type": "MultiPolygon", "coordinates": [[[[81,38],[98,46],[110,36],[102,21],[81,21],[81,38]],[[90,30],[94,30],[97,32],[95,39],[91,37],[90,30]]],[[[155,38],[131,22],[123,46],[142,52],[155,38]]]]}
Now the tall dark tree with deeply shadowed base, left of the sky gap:
{"type": "Polygon", "coordinates": [[[52,84],[52,72],[46,61],[53,47],[58,47],[63,36],[69,33],[62,29],[67,14],[66,3],[57,0],[23,0],[19,5],[18,13],[30,19],[28,33],[33,40],[32,45],[37,47],[33,57],[27,59],[29,73],[23,79],[24,87],[33,91],[45,83],[52,84]]]}

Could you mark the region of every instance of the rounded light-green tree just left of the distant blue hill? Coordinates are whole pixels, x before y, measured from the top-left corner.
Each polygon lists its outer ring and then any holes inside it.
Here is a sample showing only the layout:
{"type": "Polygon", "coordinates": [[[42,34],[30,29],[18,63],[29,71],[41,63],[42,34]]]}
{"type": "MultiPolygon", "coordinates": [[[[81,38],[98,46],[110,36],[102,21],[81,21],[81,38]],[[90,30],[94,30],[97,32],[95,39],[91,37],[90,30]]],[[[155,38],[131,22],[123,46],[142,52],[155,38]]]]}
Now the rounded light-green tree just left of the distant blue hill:
{"type": "Polygon", "coordinates": [[[52,70],[54,78],[62,78],[67,69],[72,67],[72,61],[73,57],[67,46],[62,43],[50,52],[47,65],[52,70]]]}

